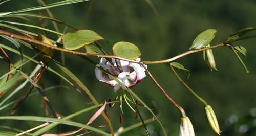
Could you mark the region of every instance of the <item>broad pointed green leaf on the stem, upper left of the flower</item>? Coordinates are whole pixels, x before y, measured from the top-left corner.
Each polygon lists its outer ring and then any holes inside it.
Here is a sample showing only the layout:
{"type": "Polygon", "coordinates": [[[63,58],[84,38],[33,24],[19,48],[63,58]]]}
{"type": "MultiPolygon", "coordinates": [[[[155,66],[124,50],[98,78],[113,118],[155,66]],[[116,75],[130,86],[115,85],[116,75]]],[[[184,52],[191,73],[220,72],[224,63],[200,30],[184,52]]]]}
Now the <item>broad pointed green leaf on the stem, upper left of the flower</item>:
{"type": "Polygon", "coordinates": [[[68,50],[76,50],[97,40],[104,38],[92,30],[78,30],[74,33],[67,33],[63,36],[64,47],[68,50]]]}

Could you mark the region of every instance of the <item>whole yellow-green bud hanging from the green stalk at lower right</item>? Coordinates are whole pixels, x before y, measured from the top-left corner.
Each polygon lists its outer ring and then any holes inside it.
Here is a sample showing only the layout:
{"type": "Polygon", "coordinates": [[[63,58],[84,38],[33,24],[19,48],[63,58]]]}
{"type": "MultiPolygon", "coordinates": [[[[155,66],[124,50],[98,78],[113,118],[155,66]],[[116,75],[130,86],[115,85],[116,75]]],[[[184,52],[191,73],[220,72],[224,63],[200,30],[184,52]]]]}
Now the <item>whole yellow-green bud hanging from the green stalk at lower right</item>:
{"type": "Polygon", "coordinates": [[[221,130],[218,124],[218,120],[215,116],[214,110],[211,108],[210,105],[205,106],[205,114],[211,129],[220,135],[221,130]]]}

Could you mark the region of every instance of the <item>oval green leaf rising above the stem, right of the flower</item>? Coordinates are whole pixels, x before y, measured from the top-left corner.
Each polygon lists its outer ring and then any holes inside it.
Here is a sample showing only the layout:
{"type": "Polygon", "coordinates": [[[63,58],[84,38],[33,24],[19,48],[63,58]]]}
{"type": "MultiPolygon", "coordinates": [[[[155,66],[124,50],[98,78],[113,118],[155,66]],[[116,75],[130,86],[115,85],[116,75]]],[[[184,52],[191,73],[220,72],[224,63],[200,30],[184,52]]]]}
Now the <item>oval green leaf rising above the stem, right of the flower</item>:
{"type": "Polygon", "coordinates": [[[203,31],[193,41],[192,46],[189,48],[189,50],[204,48],[212,41],[212,39],[214,39],[216,32],[217,31],[215,29],[207,29],[203,31]]]}

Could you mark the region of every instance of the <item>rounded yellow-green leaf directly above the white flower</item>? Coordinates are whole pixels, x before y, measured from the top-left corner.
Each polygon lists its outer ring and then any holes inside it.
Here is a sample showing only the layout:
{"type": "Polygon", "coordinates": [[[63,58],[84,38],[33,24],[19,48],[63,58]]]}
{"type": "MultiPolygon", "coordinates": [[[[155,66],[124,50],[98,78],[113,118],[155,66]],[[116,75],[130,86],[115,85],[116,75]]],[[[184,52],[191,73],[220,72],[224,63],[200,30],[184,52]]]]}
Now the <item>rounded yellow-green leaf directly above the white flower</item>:
{"type": "Polygon", "coordinates": [[[117,42],[112,49],[116,56],[126,59],[137,59],[141,56],[139,48],[130,42],[117,42]]]}

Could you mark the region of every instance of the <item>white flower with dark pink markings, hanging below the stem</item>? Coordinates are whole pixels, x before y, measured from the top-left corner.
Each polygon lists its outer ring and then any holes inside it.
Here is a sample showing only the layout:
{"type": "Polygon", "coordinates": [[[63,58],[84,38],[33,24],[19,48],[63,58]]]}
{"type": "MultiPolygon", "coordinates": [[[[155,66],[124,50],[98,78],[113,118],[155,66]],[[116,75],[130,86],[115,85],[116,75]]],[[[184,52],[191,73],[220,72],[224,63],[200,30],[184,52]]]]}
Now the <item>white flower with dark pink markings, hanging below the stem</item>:
{"type": "MultiPolygon", "coordinates": [[[[140,58],[137,58],[136,60],[140,61],[140,58]]],[[[132,88],[146,77],[144,67],[140,64],[130,63],[119,59],[111,59],[111,61],[112,64],[105,58],[101,58],[99,65],[129,88],[132,88]]],[[[102,72],[98,67],[95,68],[95,75],[99,81],[114,87],[115,91],[124,89],[117,81],[102,72]]]]}

